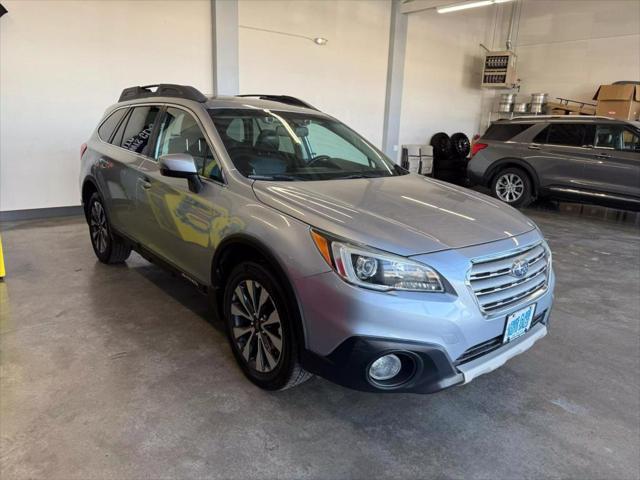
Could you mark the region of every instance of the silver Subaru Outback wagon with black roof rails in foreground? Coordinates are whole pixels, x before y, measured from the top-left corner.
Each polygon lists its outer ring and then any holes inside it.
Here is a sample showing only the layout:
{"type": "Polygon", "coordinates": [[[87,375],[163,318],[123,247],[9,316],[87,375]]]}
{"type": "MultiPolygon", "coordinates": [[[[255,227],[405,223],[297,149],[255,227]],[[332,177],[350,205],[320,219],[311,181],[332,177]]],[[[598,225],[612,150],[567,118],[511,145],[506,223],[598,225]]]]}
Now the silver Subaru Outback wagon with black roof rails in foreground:
{"type": "Polygon", "coordinates": [[[409,174],[288,96],[132,87],[82,146],[104,263],[131,250],[207,293],[244,374],[430,393],[547,334],[551,252],[513,208],[409,174]]]}

